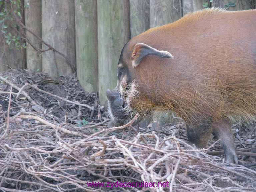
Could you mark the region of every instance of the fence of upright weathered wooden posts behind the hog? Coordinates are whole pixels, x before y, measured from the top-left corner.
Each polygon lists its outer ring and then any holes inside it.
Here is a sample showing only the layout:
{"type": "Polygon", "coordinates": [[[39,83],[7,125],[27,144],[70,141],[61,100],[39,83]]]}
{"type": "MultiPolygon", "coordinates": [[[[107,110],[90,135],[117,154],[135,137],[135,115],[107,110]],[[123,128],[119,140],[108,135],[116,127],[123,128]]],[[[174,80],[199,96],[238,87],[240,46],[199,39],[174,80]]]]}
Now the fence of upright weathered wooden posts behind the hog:
{"type": "MultiPolygon", "coordinates": [[[[125,43],[145,30],[174,22],[203,9],[205,0],[24,0],[25,25],[69,61],[49,50],[38,53],[9,49],[0,32],[0,71],[8,68],[47,72],[51,76],[77,72],[88,92],[99,92],[102,104],[106,89],[117,83],[117,63],[125,43]],[[70,65],[71,63],[71,65],[70,65]]],[[[206,4],[205,4],[206,3],[206,4]]],[[[251,9],[255,0],[213,0],[212,7],[251,9]],[[232,5],[232,6],[229,6],[232,5]]],[[[1,11],[0,11],[1,12],[1,11]]],[[[42,46],[29,32],[27,37],[42,46]]]]}

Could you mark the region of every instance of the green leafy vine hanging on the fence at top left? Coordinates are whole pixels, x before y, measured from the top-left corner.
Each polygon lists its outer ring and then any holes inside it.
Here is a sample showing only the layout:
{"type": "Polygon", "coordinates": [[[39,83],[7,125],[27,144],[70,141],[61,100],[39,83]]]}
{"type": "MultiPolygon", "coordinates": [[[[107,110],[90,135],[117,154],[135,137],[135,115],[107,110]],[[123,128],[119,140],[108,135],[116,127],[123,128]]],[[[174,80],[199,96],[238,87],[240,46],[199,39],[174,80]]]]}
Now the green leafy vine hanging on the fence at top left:
{"type": "Polygon", "coordinates": [[[16,23],[14,14],[18,16],[19,19],[22,18],[22,3],[21,0],[0,0],[0,27],[1,33],[4,34],[6,44],[9,47],[22,49],[26,48],[26,43],[24,43],[19,35],[19,27],[16,23]],[[13,10],[11,9],[11,6],[13,10]],[[16,30],[12,30],[16,29],[16,30]],[[17,32],[18,31],[18,32],[17,32]]]}

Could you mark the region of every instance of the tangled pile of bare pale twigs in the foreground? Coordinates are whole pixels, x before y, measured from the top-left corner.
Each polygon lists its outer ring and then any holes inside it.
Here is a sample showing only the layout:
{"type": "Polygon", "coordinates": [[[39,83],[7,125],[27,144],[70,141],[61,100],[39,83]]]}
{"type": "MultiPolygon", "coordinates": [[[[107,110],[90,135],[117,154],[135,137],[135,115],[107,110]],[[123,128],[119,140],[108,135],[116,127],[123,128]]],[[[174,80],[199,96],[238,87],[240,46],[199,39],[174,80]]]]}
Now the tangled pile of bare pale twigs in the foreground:
{"type": "Polygon", "coordinates": [[[16,85],[0,79],[5,85],[0,97],[8,101],[7,110],[0,110],[0,191],[256,191],[255,170],[225,164],[223,158],[206,153],[216,142],[199,150],[178,138],[177,129],[140,133],[132,126],[137,116],[124,126],[106,128],[108,119],[96,122],[104,112],[95,101],[82,104],[49,95],[31,82],[16,85]],[[84,107],[88,118],[94,111],[95,122],[79,124],[78,117],[68,121],[72,113],[61,118],[47,114],[48,108],[29,94],[32,90],[55,97],[57,105],[64,101],[84,107]],[[169,185],[107,187],[107,182],[117,181],[169,185]],[[90,187],[89,182],[105,184],[90,187]]]}

